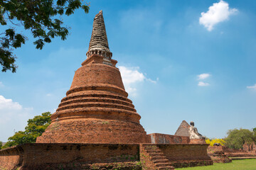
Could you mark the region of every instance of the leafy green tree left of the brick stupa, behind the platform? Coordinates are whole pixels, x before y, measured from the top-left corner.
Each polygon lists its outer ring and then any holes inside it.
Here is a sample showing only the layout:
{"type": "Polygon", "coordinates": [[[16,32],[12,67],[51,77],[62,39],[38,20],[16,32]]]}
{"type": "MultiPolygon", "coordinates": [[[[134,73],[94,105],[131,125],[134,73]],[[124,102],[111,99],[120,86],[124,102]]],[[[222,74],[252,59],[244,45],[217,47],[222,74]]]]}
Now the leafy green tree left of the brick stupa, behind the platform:
{"type": "Polygon", "coordinates": [[[46,112],[29,119],[25,131],[15,132],[12,137],[8,138],[8,142],[2,148],[36,142],[36,137],[41,136],[50,125],[50,115],[50,112],[46,112]]]}

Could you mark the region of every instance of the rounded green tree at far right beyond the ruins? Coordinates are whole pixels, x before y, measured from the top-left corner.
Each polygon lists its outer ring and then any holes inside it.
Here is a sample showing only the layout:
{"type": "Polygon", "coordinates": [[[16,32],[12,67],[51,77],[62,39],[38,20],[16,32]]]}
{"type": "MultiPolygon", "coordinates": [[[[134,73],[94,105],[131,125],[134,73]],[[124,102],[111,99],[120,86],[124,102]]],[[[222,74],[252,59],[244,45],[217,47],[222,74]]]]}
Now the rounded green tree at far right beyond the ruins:
{"type": "Polygon", "coordinates": [[[245,143],[249,147],[253,142],[253,132],[247,129],[228,130],[228,137],[225,138],[225,141],[225,146],[232,149],[242,149],[242,145],[245,143]]]}

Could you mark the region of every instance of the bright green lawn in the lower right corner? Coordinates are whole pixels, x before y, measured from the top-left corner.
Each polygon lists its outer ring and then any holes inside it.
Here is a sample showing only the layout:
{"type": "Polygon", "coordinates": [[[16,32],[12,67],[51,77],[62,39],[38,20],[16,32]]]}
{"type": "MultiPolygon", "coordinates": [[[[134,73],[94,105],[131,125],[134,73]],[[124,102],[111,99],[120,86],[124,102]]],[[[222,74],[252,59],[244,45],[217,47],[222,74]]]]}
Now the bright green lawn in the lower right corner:
{"type": "MultiPolygon", "coordinates": [[[[233,160],[231,163],[216,163],[211,166],[197,166],[179,170],[256,170],[256,159],[233,160]]],[[[178,170],[178,169],[177,169],[178,170]]]]}

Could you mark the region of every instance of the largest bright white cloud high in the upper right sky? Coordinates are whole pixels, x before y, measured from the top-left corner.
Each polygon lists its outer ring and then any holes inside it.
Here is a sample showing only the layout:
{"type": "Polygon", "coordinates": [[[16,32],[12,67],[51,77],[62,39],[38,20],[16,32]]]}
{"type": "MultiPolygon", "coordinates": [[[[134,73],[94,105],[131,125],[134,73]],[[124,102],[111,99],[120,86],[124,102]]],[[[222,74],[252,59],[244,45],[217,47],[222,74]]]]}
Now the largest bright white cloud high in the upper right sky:
{"type": "Polygon", "coordinates": [[[201,13],[199,23],[207,28],[208,31],[213,30],[215,24],[228,20],[229,16],[236,13],[238,9],[229,8],[228,3],[220,0],[209,7],[209,10],[201,13]]]}

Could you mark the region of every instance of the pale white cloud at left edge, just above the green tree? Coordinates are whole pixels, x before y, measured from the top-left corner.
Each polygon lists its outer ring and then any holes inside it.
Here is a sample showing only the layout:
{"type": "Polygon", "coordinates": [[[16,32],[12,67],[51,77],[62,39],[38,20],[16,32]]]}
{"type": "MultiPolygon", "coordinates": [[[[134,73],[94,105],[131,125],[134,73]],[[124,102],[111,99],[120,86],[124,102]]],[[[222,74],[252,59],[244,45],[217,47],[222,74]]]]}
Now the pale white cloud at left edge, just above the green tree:
{"type": "Polygon", "coordinates": [[[24,130],[33,108],[23,108],[18,102],[0,96],[0,141],[6,142],[14,130],[24,130]]]}

